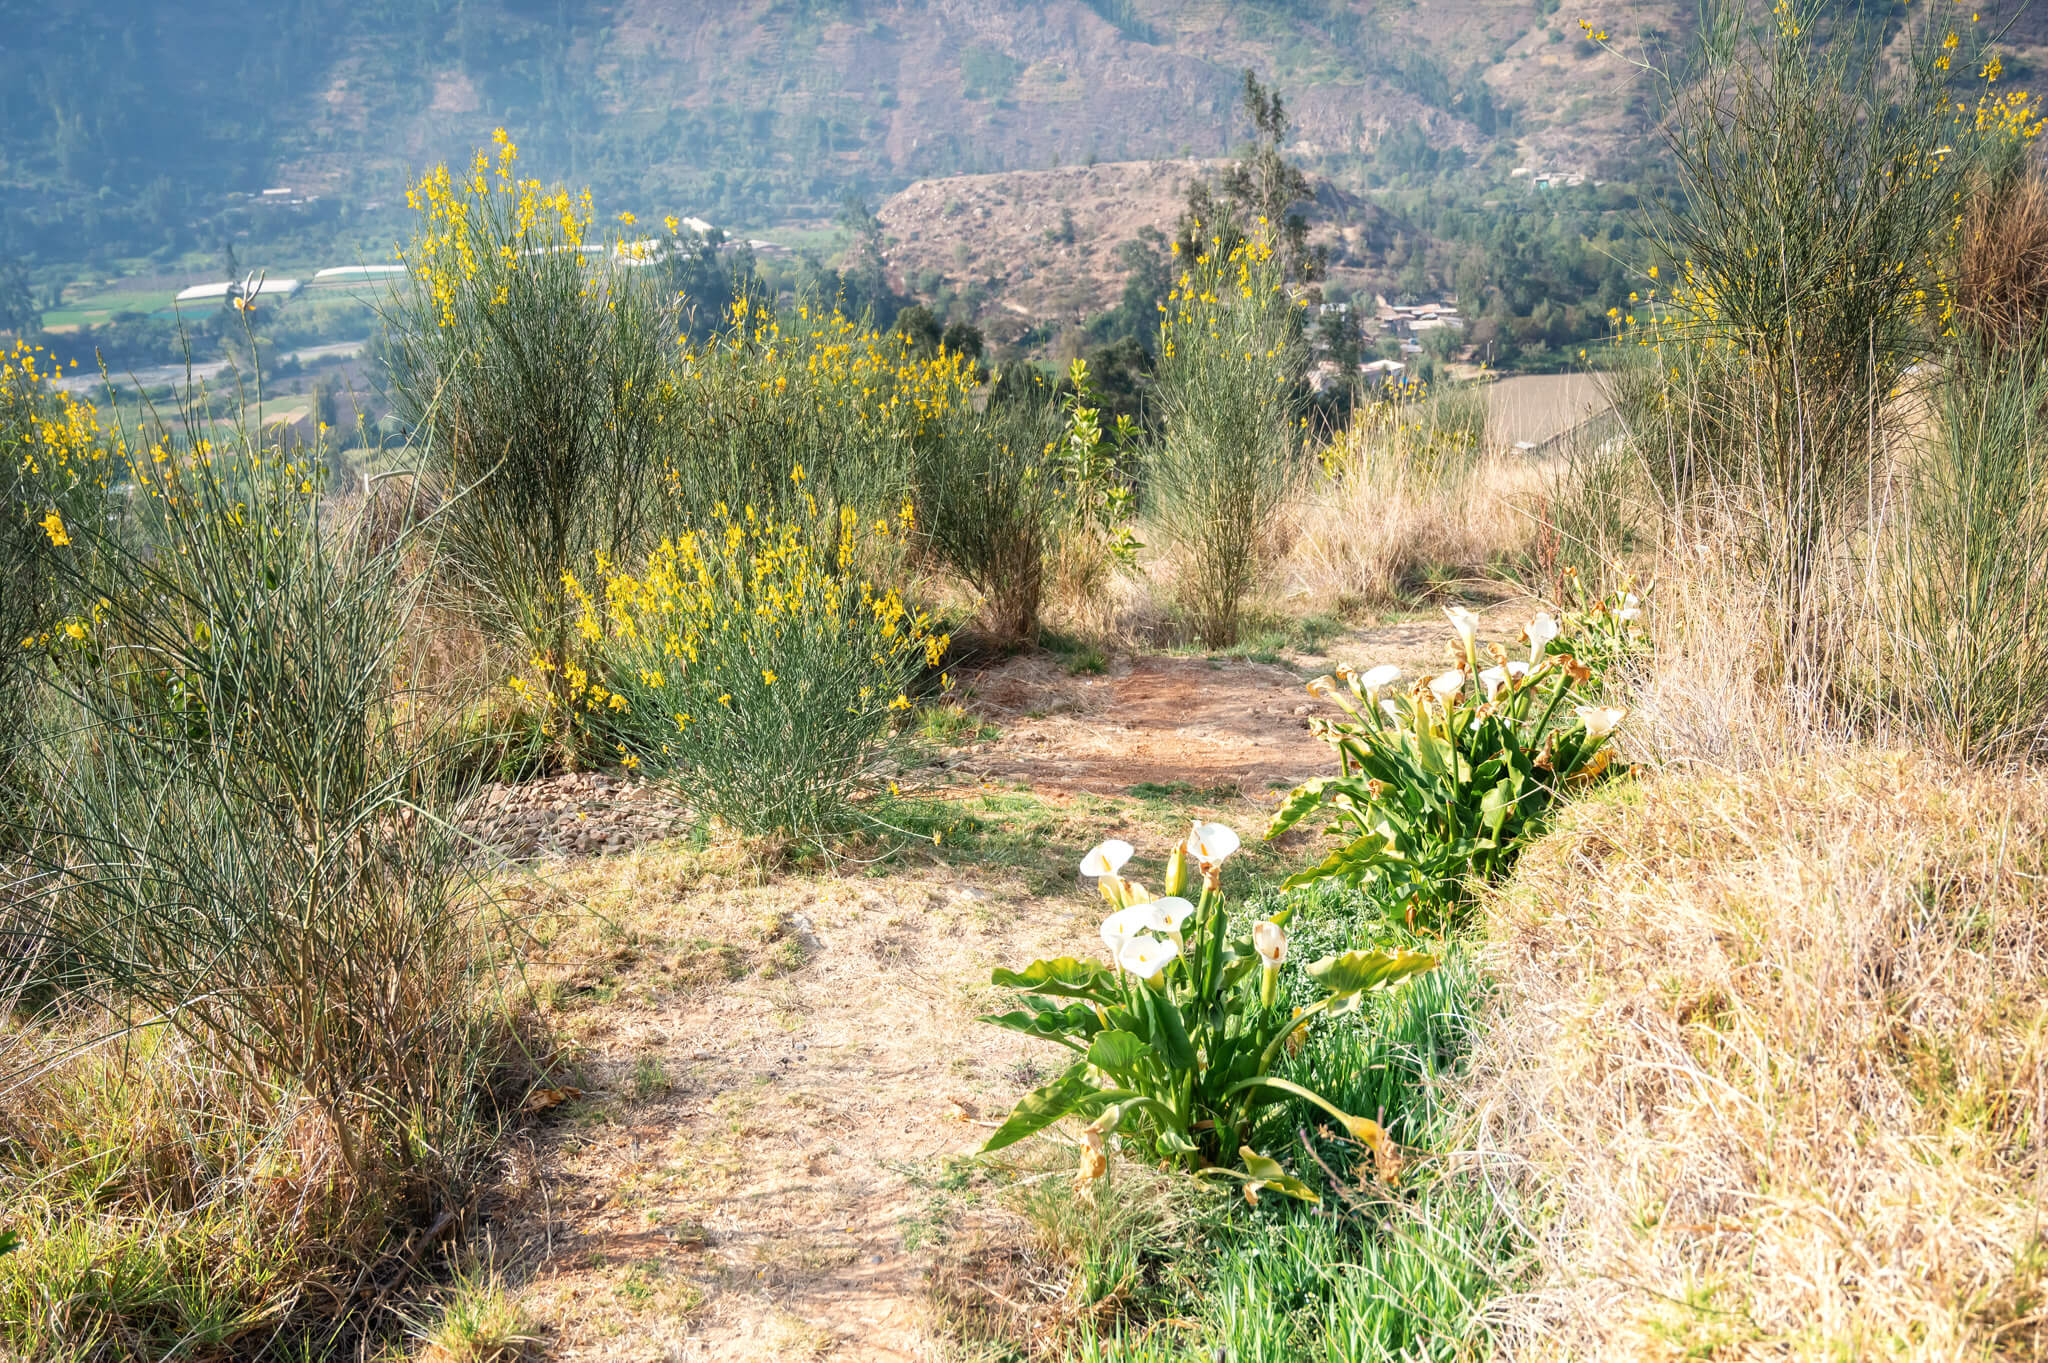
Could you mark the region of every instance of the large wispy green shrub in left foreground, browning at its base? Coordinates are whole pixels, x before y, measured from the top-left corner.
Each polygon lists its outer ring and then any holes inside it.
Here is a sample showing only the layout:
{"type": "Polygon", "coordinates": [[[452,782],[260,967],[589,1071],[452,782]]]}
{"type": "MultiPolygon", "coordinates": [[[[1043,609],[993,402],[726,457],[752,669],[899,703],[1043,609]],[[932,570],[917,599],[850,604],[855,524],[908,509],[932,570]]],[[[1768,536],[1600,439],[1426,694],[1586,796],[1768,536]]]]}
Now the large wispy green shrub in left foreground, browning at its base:
{"type": "MultiPolygon", "coordinates": [[[[422,696],[401,690],[408,540],[319,516],[276,450],[133,458],[119,532],[57,571],[94,600],[57,643],[35,751],[33,900],[0,905],[35,993],[319,1113],[352,1177],[453,1177],[494,1036],[422,696]]],[[[35,997],[31,993],[31,997],[35,997]]]]}

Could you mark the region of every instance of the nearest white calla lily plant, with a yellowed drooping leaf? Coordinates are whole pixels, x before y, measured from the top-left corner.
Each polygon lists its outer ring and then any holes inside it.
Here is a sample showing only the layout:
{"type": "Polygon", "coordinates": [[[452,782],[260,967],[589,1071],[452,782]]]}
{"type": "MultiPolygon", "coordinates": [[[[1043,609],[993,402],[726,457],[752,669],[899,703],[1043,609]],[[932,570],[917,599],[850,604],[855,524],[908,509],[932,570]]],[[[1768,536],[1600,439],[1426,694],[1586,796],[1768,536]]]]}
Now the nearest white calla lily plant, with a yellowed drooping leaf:
{"type": "Polygon", "coordinates": [[[995,1130],[985,1150],[1001,1150],[1061,1117],[1085,1117],[1087,1154],[1081,1185],[1108,1171],[1108,1138],[1208,1177],[1237,1179],[1245,1197],[1272,1189],[1317,1201],[1315,1191],[1278,1160],[1251,1148],[1268,1103],[1303,1099],[1335,1117],[1352,1138],[1391,1167],[1386,1132],[1354,1117],[1319,1093],[1278,1079],[1274,1064],[1288,1040],[1319,1017],[1362,1007],[1364,997],[1436,968],[1423,952],[1343,952],[1307,968],[1323,999],[1288,1009],[1278,988],[1288,960],[1288,911],[1233,937],[1221,890],[1221,866],[1237,851],[1237,833],[1198,823],[1167,860],[1165,894],[1122,878],[1130,843],[1106,841],[1081,862],[1114,911],[1102,923],[1108,964],[1038,960],[997,970],[993,982],[1022,991],[1010,1013],[983,1021],[1065,1046],[1077,1058],[1030,1093],[995,1130]],[[1188,903],[1188,870],[1200,898],[1188,903]],[[1241,1167],[1233,1167],[1241,1164],[1241,1167]]]}

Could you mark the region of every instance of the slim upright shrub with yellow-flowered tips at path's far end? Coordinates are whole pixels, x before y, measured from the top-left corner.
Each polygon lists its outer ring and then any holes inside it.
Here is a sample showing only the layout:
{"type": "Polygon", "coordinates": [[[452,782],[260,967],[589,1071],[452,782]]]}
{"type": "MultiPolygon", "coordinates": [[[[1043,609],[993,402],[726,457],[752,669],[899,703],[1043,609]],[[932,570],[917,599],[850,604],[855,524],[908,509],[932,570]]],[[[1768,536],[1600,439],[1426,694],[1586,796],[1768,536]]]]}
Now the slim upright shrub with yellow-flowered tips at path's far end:
{"type": "Polygon", "coordinates": [[[1176,555],[1176,591],[1208,647],[1237,643],[1245,600],[1274,557],[1298,475],[1303,340],[1264,237],[1184,262],[1159,329],[1153,518],[1176,555]]]}

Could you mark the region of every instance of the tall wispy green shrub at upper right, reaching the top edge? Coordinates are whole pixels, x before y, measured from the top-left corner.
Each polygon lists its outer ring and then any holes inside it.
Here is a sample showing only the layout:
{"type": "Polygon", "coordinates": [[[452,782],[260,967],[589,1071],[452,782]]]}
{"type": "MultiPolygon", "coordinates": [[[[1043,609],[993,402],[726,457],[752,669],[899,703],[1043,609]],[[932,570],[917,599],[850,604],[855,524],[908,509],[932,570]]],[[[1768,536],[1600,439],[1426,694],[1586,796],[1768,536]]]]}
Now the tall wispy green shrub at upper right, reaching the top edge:
{"type": "Polygon", "coordinates": [[[1769,667],[1827,692],[1831,559],[1884,501],[1901,389],[1950,321],[1944,244],[1968,184],[1946,18],[1886,51],[1839,6],[1704,23],[1677,94],[1677,209],[1616,311],[1665,377],[1636,411],[1667,514],[1769,583],[1769,667]]]}

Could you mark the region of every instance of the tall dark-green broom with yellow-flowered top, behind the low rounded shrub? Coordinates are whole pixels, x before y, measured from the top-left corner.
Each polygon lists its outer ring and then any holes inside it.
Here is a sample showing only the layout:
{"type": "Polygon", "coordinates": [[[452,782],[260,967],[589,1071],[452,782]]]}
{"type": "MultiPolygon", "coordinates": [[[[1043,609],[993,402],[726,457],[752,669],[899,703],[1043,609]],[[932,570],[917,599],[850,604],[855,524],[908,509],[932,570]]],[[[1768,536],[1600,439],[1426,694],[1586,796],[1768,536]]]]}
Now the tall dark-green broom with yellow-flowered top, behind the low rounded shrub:
{"type": "MultiPolygon", "coordinates": [[[[440,166],[410,190],[391,389],[449,495],[440,563],[461,604],[559,679],[563,573],[647,524],[676,317],[635,268],[645,246],[592,241],[588,190],[518,180],[514,153],[500,131],[467,176],[440,166]]],[[[559,722],[559,682],[551,700],[559,722]]]]}

